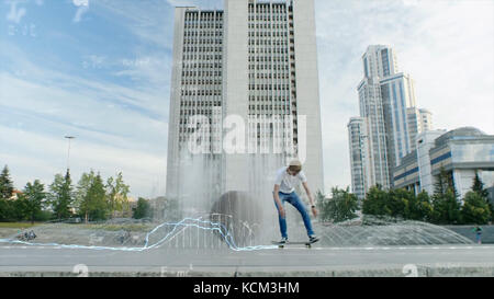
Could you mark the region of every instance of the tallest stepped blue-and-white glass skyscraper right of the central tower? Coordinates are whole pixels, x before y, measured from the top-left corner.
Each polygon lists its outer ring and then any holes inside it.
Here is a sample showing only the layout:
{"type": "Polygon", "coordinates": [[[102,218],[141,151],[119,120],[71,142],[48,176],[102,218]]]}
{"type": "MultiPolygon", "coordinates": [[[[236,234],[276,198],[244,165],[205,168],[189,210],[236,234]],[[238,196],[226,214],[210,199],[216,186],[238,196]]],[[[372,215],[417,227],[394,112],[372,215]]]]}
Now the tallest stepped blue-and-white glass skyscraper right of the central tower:
{"type": "Polygon", "coordinates": [[[357,89],[369,143],[367,182],[388,188],[392,187],[392,170],[416,149],[416,136],[430,123],[430,114],[422,115],[416,107],[414,81],[398,72],[390,46],[369,46],[362,61],[363,79],[357,89]]]}

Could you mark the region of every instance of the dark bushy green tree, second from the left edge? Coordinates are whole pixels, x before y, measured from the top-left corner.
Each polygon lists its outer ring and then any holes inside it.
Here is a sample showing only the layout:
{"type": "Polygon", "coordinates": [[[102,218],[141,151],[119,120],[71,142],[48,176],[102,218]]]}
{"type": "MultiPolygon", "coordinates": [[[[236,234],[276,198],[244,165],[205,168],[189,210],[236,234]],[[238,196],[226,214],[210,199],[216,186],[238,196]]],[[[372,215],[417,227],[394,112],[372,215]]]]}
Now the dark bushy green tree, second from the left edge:
{"type": "MultiPolygon", "coordinates": [[[[27,183],[24,187],[23,194],[15,202],[20,205],[20,217],[30,220],[34,223],[42,214],[45,204],[46,193],[45,186],[35,180],[34,183],[27,183]]],[[[22,220],[22,219],[19,219],[22,220]]]]}

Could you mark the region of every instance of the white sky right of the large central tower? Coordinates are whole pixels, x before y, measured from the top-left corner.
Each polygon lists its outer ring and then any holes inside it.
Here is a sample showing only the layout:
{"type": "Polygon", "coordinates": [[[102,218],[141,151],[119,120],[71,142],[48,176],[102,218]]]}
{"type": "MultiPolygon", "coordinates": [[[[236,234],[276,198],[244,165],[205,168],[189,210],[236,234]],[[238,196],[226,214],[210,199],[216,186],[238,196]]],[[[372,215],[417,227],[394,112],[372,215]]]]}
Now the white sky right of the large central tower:
{"type": "Polygon", "coordinates": [[[316,1],[325,186],[350,184],[347,123],[359,115],[361,55],[372,44],[397,51],[416,82],[417,104],[436,128],[494,134],[494,2],[316,1]],[[341,175],[343,173],[343,175],[341,175]]]}

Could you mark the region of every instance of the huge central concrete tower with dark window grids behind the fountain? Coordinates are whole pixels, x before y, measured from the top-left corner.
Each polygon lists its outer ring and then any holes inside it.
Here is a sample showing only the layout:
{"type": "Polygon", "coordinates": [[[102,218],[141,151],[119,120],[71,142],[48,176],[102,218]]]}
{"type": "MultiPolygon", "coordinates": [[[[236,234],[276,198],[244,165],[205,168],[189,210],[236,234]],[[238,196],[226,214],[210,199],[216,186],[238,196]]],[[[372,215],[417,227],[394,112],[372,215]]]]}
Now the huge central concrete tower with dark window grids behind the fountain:
{"type": "Polygon", "coordinates": [[[192,171],[207,177],[200,194],[249,192],[293,157],[324,191],[314,1],[177,8],[173,38],[167,195],[189,193],[192,171]]]}

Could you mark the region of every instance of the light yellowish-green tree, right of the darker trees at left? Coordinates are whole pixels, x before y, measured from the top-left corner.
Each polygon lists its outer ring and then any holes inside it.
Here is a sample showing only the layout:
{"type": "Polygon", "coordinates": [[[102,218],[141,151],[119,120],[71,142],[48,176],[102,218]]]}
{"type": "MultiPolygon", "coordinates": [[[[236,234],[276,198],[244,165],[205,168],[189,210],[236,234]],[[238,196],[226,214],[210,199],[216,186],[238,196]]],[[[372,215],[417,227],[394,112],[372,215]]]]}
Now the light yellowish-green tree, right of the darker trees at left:
{"type": "Polygon", "coordinates": [[[110,217],[115,215],[127,215],[131,211],[127,195],[131,187],[123,181],[122,172],[116,175],[116,179],[109,177],[106,180],[106,196],[109,204],[110,217]]]}

